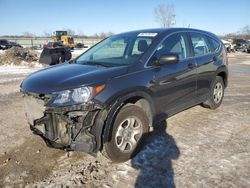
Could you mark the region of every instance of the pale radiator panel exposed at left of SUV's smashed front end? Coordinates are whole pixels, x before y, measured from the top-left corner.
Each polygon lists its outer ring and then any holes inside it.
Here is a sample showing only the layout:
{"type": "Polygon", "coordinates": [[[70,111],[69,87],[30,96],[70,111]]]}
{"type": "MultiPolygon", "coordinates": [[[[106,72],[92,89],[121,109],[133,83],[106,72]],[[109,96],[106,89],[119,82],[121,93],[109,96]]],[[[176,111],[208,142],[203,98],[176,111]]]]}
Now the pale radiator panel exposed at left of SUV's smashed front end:
{"type": "Polygon", "coordinates": [[[34,120],[44,116],[44,101],[31,95],[24,96],[24,111],[30,125],[34,125],[34,120]]]}

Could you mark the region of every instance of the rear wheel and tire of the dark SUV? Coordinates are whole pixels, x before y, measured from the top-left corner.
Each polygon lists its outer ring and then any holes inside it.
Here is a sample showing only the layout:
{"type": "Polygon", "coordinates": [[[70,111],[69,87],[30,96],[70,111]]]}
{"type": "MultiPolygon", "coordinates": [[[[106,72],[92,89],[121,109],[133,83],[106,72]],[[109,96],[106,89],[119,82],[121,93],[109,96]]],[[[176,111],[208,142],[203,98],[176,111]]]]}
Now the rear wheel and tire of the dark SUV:
{"type": "Polygon", "coordinates": [[[224,90],[225,85],[222,78],[216,76],[210,88],[209,98],[206,102],[202,103],[202,106],[210,109],[218,108],[222,103],[224,90]]]}

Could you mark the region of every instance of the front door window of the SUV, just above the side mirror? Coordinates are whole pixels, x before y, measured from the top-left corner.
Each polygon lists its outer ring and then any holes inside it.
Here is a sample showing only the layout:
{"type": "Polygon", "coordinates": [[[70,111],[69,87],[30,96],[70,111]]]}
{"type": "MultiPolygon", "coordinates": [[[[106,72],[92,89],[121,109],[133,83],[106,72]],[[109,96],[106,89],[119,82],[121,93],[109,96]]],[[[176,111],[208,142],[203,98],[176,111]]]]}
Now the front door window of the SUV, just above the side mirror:
{"type": "Polygon", "coordinates": [[[179,59],[188,57],[186,48],[186,37],[183,34],[174,34],[168,37],[156,50],[156,57],[163,55],[176,54],[179,59]]]}

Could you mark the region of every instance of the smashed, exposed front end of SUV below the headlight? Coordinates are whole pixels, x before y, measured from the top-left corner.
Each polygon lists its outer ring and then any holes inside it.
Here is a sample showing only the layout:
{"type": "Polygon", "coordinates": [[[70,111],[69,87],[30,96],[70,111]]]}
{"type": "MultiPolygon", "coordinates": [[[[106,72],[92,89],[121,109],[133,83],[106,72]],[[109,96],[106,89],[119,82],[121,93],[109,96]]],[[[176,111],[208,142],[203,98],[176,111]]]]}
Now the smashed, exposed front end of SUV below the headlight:
{"type": "Polygon", "coordinates": [[[25,114],[34,134],[50,147],[96,154],[106,111],[93,101],[83,105],[46,107],[46,96],[24,94],[25,114]]]}

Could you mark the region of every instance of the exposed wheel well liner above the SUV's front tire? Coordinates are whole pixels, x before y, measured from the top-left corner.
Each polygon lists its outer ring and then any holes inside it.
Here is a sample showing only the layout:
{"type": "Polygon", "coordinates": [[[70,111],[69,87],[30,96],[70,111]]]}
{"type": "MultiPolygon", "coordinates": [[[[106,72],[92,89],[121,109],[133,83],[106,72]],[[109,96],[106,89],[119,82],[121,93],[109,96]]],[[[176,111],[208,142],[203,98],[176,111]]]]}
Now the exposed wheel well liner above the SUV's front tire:
{"type": "Polygon", "coordinates": [[[126,101],[124,101],[125,105],[129,105],[129,104],[135,104],[139,107],[141,107],[143,109],[143,111],[146,113],[147,117],[149,118],[149,126],[153,127],[153,109],[150,105],[150,103],[148,102],[148,100],[146,100],[143,97],[140,96],[134,96],[131,97],[129,99],[127,99],[126,101]]]}

